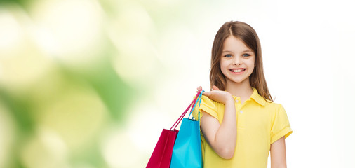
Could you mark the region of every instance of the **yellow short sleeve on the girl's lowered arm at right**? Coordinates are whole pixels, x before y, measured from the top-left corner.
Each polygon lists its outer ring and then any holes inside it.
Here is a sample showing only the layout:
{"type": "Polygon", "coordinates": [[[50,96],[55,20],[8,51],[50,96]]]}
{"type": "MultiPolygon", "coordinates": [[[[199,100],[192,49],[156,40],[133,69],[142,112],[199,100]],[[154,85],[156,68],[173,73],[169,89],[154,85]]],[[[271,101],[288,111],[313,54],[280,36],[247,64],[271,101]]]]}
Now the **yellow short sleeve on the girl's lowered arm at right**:
{"type": "Polygon", "coordinates": [[[288,137],[292,132],[286,111],[279,104],[272,119],[271,144],[283,136],[288,137]]]}

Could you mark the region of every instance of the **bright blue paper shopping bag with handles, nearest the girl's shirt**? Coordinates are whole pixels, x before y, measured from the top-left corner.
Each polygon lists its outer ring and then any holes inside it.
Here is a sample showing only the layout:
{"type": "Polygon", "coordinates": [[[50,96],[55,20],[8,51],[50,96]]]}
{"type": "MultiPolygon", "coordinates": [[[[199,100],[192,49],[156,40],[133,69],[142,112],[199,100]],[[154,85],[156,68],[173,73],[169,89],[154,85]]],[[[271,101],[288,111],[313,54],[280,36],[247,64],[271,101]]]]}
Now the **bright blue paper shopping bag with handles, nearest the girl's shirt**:
{"type": "MultiPolygon", "coordinates": [[[[196,101],[199,102],[199,106],[201,104],[201,97],[202,92],[196,101]]],[[[189,116],[193,110],[194,107],[189,113],[189,116]]],[[[184,118],[182,120],[180,131],[174,144],[170,167],[203,167],[199,120],[195,120],[193,117],[184,118]]]]}

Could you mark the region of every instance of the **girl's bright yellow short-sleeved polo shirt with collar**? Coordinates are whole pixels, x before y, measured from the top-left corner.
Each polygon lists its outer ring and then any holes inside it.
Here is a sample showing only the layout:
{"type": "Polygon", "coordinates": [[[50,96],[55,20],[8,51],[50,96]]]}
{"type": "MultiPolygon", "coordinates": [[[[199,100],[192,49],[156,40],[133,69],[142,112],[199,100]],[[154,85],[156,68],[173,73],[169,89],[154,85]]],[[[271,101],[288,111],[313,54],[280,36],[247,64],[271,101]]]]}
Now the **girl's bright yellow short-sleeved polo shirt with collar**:
{"type": "MultiPolygon", "coordinates": [[[[236,106],[236,149],[232,159],[220,158],[207,143],[201,132],[202,158],[204,168],[267,167],[270,145],[279,138],[292,133],[285,109],[281,104],[266,102],[255,88],[248,100],[241,104],[234,97],[236,106]]],[[[196,104],[192,115],[198,118],[197,109],[202,109],[222,123],[225,105],[202,96],[201,106],[196,104]]],[[[201,118],[200,113],[200,118],[201,118]]]]}

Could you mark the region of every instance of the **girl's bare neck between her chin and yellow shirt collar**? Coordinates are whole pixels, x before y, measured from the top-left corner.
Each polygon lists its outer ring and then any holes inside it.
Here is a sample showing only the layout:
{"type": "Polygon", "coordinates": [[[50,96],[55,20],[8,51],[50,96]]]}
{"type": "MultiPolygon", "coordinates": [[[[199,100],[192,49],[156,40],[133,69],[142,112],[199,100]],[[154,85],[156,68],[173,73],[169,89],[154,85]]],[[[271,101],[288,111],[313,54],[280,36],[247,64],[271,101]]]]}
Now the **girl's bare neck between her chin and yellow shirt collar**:
{"type": "Polygon", "coordinates": [[[253,88],[251,87],[249,80],[246,80],[242,83],[227,81],[225,91],[236,97],[240,97],[242,102],[244,102],[246,99],[249,99],[251,94],[253,94],[253,88]]]}

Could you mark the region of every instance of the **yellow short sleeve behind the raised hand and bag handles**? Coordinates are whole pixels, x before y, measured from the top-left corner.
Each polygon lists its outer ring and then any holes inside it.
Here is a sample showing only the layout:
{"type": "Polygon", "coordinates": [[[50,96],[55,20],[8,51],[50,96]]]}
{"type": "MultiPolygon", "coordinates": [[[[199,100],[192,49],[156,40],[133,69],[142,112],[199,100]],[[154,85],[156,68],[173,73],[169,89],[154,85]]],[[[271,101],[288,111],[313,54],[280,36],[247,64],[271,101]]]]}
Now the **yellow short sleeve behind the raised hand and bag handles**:
{"type": "Polygon", "coordinates": [[[199,113],[200,113],[200,118],[201,118],[202,117],[201,109],[203,111],[206,111],[206,113],[210,114],[210,116],[213,116],[214,118],[218,119],[216,102],[214,102],[213,100],[209,99],[204,95],[202,95],[200,106],[199,106],[199,102],[196,102],[195,109],[194,111],[192,111],[192,116],[194,116],[194,118],[199,118],[199,113]]]}

